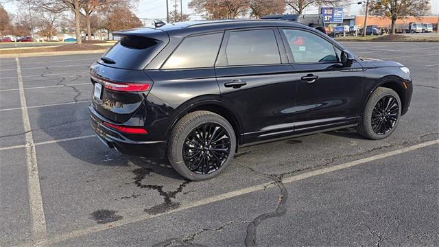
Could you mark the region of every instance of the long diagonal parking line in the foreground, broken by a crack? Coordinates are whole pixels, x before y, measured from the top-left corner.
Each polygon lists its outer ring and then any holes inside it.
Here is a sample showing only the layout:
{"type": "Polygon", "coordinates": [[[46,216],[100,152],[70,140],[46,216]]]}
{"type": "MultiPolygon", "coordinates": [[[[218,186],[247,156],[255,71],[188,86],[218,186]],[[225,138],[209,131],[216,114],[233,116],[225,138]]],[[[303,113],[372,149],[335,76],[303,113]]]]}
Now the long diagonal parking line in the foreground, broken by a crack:
{"type": "MultiPolygon", "coordinates": [[[[407,148],[401,148],[399,150],[394,150],[394,151],[386,152],[386,153],[383,153],[383,154],[377,154],[375,156],[370,156],[370,157],[367,157],[367,158],[361,158],[361,159],[359,159],[357,161],[351,161],[351,162],[344,163],[344,164],[341,164],[341,165],[334,165],[333,167],[317,169],[317,170],[314,170],[314,171],[311,171],[311,172],[305,172],[303,174],[299,174],[299,175],[296,175],[296,176],[290,176],[290,177],[284,178],[283,179],[283,183],[284,184],[293,183],[293,182],[296,182],[298,180],[303,180],[303,179],[306,179],[306,178],[311,178],[313,176],[327,174],[329,172],[339,171],[341,169],[346,169],[348,167],[353,167],[355,165],[367,164],[367,163],[370,163],[372,161],[377,161],[377,160],[380,160],[380,159],[383,159],[383,158],[388,158],[388,157],[395,156],[395,155],[398,155],[398,154],[403,154],[405,152],[411,152],[411,151],[414,151],[414,150],[418,150],[419,148],[425,148],[425,147],[427,147],[429,145],[435,145],[435,144],[439,144],[439,139],[436,139],[434,141],[427,141],[425,143],[419,143],[419,144],[412,145],[412,146],[407,147],[407,148]]],[[[226,199],[229,199],[229,198],[235,198],[237,196],[243,196],[243,195],[246,195],[248,193],[252,193],[252,192],[256,192],[256,191],[261,191],[261,190],[266,189],[268,187],[274,187],[274,186],[276,186],[276,185],[274,185],[271,182],[270,183],[263,183],[261,185],[254,185],[252,187],[247,187],[247,188],[244,188],[244,189],[238,189],[236,191],[229,191],[229,192],[226,192],[226,193],[219,194],[217,196],[212,196],[212,197],[205,198],[205,199],[202,199],[202,200],[189,202],[187,204],[182,204],[180,208],[168,211],[166,213],[159,213],[159,214],[156,214],[156,215],[150,215],[150,214],[144,213],[142,215],[137,215],[137,216],[134,216],[134,217],[133,216],[131,216],[131,217],[123,217],[122,220],[119,220],[117,222],[110,222],[108,224],[101,224],[101,225],[91,226],[89,228],[79,229],[79,230],[76,230],[76,231],[71,231],[69,233],[55,235],[54,237],[50,237],[49,238],[49,243],[50,244],[55,244],[57,242],[62,242],[62,241],[65,241],[67,239],[73,239],[75,237],[81,237],[81,236],[84,236],[84,235],[88,235],[88,234],[91,234],[91,233],[97,233],[97,232],[100,232],[100,231],[105,231],[105,230],[116,228],[116,227],[119,227],[119,226],[126,226],[127,224],[132,224],[132,223],[135,223],[135,222],[140,222],[142,220],[149,220],[149,219],[152,219],[152,218],[155,218],[155,217],[159,217],[161,215],[168,215],[169,213],[176,213],[178,211],[183,211],[183,210],[186,210],[186,209],[192,209],[194,207],[204,206],[206,204],[211,204],[213,202],[219,202],[219,201],[226,200],[226,199]]]]}

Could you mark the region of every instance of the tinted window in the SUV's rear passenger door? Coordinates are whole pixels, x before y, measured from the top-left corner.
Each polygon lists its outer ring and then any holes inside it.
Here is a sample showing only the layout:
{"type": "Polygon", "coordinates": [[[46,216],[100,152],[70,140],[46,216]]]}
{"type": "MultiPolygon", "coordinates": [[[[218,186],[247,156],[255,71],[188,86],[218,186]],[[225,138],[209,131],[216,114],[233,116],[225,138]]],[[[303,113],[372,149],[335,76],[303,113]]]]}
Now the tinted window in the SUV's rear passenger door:
{"type": "Polygon", "coordinates": [[[281,63],[273,30],[230,32],[226,57],[228,65],[281,63]]]}

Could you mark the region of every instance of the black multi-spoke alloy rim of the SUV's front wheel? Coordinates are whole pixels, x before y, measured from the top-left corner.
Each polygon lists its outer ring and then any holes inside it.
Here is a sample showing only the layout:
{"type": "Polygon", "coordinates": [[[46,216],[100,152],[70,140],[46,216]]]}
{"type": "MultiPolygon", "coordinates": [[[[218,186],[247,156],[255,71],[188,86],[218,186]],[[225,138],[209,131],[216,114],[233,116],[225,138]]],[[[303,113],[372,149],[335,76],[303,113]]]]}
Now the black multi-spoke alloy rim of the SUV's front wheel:
{"type": "Polygon", "coordinates": [[[385,95],[372,110],[372,129],[377,134],[387,134],[399,117],[399,104],[392,95],[385,95]]]}

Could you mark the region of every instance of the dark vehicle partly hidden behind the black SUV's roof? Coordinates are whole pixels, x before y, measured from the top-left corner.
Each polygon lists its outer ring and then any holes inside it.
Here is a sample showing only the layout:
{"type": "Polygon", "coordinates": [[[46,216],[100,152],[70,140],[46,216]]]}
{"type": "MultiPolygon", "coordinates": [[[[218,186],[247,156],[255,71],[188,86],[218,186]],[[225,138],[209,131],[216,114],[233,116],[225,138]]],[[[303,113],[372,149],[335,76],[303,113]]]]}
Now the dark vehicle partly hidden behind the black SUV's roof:
{"type": "Polygon", "coordinates": [[[270,14],[262,16],[261,19],[296,21],[308,27],[313,27],[324,34],[328,34],[327,28],[324,27],[322,14],[270,14]]]}

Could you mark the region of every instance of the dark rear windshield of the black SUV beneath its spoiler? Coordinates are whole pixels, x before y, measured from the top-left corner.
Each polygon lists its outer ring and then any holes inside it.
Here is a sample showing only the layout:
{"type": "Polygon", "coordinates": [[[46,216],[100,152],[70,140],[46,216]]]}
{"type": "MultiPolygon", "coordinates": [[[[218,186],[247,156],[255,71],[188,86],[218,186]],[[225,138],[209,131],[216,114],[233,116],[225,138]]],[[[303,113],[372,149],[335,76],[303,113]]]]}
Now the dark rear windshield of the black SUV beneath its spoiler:
{"type": "Polygon", "coordinates": [[[99,63],[121,69],[144,69],[165,45],[153,38],[125,36],[104,54],[103,58],[107,59],[99,63]]]}

